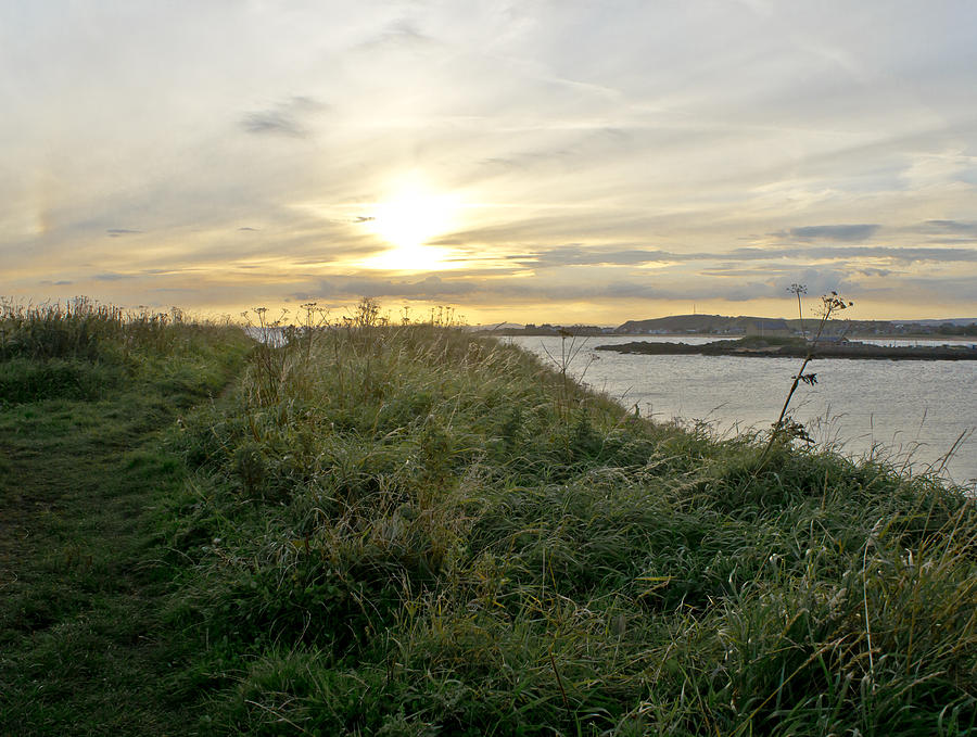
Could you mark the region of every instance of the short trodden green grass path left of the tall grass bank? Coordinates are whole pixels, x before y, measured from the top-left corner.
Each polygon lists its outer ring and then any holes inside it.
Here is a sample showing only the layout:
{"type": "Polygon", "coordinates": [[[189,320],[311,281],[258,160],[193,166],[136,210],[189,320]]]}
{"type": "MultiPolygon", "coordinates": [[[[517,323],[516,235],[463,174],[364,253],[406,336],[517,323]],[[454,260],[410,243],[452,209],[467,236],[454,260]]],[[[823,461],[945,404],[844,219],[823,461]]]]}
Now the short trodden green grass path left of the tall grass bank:
{"type": "Polygon", "coordinates": [[[0,735],[193,732],[147,513],[183,478],[158,431],[186,403],[130,392],[0,411],[0,735]]]}

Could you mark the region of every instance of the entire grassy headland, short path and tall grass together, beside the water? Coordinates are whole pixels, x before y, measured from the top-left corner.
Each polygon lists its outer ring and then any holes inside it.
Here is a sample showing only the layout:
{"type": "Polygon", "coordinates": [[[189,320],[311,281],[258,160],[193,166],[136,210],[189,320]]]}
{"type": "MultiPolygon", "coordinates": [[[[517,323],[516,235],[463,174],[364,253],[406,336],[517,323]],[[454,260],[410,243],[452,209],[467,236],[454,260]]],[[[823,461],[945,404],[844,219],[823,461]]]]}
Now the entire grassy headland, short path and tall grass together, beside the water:
{"type": "Polygon", "coordinates": [[[105,317],[3,322],[0,734],[977,734],[962,490],[368,304],[105,317]]]}

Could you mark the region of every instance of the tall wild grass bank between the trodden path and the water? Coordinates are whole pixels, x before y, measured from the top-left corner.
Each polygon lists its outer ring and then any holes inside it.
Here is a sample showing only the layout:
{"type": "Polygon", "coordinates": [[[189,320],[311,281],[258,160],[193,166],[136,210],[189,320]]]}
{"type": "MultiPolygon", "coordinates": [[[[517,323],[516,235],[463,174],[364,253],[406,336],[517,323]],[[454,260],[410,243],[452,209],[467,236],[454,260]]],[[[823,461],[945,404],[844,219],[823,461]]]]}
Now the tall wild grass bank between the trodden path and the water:
{"type": "Polygon", "coordinates": [[[287,335],[175,441],[210,728],[977,728],[962,490],[656,425],[451,327],[287,335]]]}

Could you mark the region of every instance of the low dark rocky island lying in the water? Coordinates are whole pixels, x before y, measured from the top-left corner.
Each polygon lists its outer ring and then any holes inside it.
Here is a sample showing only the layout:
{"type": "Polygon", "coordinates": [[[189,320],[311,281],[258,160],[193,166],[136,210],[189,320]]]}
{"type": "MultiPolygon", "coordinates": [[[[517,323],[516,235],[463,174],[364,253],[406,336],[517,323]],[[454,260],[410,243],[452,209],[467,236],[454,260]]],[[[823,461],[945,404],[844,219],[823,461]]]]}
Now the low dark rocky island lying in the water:
{"type": "Polygon", "coordinates": [[[822,338],[816,343],[802,338],[760,338],[689,343],[652,343],[634,341],[618,345],[598,345],[595,351],[640,353],[650,356],[701,355],[741,356],[750,358],[871,358],[889,360],[977,360],[973,345],[872,345],[843,338],[822,338]]]}

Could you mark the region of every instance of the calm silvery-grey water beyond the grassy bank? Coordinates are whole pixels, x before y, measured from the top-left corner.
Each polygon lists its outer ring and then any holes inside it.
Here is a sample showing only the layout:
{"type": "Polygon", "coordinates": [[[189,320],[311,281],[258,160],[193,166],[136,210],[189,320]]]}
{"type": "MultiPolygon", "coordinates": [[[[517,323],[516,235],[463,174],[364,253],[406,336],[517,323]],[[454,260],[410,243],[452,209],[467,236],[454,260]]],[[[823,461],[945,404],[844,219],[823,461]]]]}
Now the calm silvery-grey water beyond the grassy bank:
{"type": "MultiPolygon", "coordinates": [[[[560,356],[559,338],[509,340],[547,361],[547,350],[560,356]]],[[[643,416],[702,420],[719,434],[769,428],[800,367],[794,358],[642,356],[593,350],[636,340],[703,343],[714,339],[589,338],[570,372],[627,407],[637,405],[643,416]]],[[[820,444],[853,456],[874,449],[918,471],[939,468],[964,433],[943,475],[977,488],[977,361],[823,358],[812,361],[808,371],[817,373],[819,383],[799,386],[791,407],[820,444]]]]}

